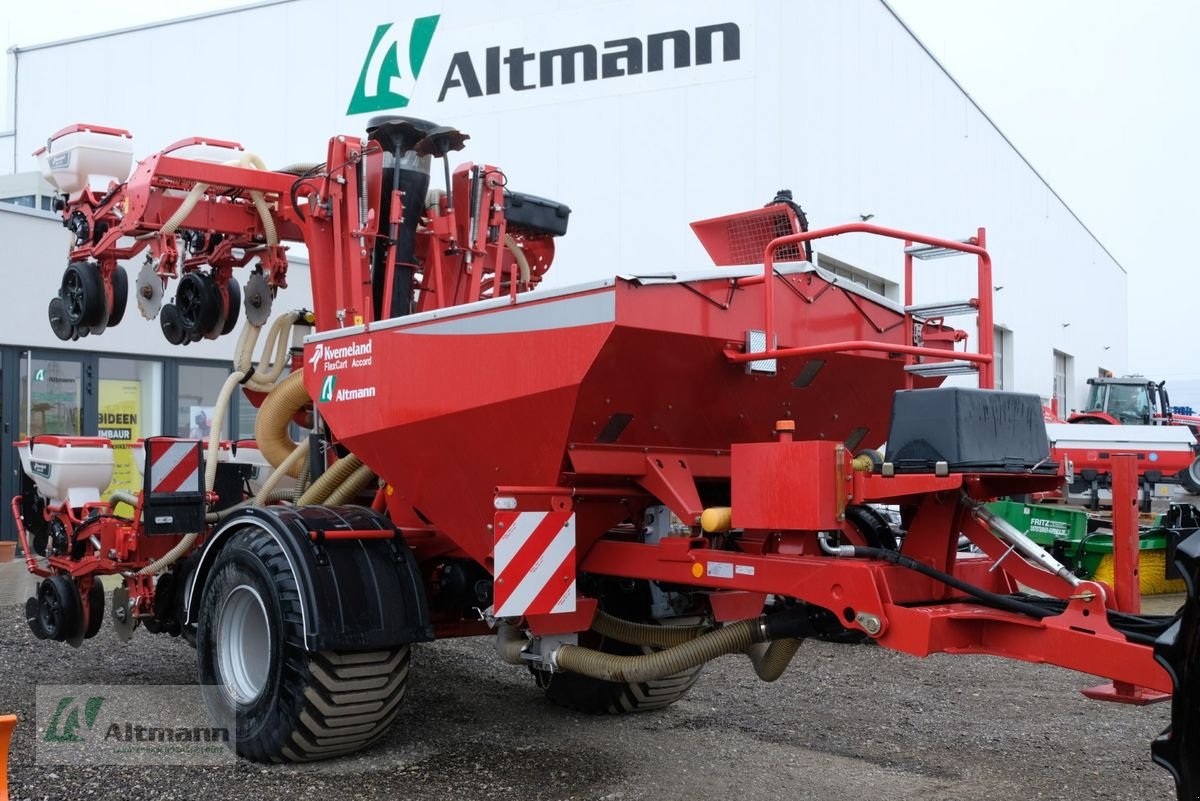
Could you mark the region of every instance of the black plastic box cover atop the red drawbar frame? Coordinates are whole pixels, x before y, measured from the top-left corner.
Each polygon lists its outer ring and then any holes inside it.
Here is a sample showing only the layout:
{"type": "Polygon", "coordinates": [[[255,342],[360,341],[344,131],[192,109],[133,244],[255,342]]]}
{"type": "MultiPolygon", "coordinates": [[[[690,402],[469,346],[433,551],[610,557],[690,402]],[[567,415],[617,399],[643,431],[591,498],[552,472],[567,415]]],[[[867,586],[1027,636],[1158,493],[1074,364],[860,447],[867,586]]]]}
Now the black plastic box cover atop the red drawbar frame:
{"type": "Polygon", "coordinates": [[[898,472],[1050,472],[1042,399],[1036,395],[941,387],[905,390],[892,399],[884,462],[898,472]]]}

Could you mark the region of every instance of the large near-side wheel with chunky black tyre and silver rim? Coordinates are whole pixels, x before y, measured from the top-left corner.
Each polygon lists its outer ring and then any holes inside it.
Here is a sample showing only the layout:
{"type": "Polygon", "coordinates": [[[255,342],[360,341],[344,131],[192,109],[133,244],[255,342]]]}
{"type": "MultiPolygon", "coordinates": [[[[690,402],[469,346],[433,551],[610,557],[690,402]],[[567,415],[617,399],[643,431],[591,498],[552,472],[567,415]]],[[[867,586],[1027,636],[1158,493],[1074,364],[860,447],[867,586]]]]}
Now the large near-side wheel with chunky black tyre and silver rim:
{"type": "Polygon", "coordinates": [[[265,532],[235,534],[209,572],[196,632],[199,681],[214,725],[259,763],[310,761],[382,737],[408,686],[408,645],[305,650],[287,556],[265,532]]]}

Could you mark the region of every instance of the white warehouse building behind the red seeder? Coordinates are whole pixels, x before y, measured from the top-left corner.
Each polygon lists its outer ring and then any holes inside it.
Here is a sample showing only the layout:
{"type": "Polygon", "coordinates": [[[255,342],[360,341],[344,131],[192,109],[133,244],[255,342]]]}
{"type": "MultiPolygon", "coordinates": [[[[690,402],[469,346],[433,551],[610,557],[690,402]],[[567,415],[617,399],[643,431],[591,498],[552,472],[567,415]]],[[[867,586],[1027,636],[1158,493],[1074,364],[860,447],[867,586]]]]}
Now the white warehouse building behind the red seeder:
{"type": "MultiPolygon", "coordinates": [[[[131,131],[139,158],[206,135],[270,165],[320,161],[330,135],[361,135],[377,114],[451,125],[470,134],[458,159],[499,165],[514,188],[571,207],[547,284],[708,266],[689,222],[762,206],[785,187],[814,228],[869,218],[965,239],[983,227],[995,330],[950,321],[972,349],[994,337],[998,385],[1069,409],[1088,377],[1127,367],[1124,270],[883,0],[362,0],[354,13],[274,0],[8,59],[8,432],[88,434],[136,411],[130,435],[187,434],[220,386],[204,371],[227,371],[233,348],[228,337],[172,348],[132,301],[98,339],[50,332],[68,240],[48,187],[26,174],[73,122],[131,131]]],[[[844,236],[817,251],[822,266],[902,296],[901,245],[844,236]]],[[[281,302],[305,306],[307,267],[294,261],[281,302]]],[[[918,303],[974,294],[972,258],[919,265],[918,303]]],[[[228,433],[247,435],[246,416],[228,433]]],[[[11,448],[0,451],[11,482],[11,448]]]]}

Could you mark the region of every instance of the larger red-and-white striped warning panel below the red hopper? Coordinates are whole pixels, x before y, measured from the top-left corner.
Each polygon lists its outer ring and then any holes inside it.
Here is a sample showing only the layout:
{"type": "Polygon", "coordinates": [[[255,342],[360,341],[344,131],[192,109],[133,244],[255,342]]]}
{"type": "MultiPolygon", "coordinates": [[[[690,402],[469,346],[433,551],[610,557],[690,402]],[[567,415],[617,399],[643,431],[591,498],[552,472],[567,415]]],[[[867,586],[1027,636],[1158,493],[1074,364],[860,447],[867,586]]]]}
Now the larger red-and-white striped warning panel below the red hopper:
{"type": "Polygon", "coordinates": [[[575,513],[496,513],[494,615],[575,612],[575,513]]]}

